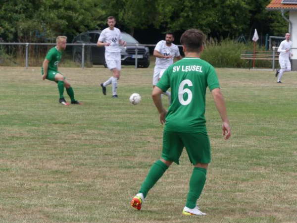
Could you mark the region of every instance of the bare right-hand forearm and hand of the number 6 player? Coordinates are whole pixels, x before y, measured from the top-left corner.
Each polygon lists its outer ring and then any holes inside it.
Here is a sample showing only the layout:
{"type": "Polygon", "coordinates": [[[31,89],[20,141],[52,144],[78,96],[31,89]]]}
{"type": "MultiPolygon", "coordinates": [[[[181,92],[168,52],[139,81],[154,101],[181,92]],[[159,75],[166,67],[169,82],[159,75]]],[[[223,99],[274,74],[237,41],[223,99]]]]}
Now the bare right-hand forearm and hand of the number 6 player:
{"type": "Polygon", "coordinates": [[[222,131],[225,139],[229,139],[231,136],[231,129],[229,124],[229,119],[227,116],[227,110],[225,106],[225,100],[221,93],[220,88],[215,88],[211,91],[215,106],[222,118],[223,124],[222,124],[222,131]]]}

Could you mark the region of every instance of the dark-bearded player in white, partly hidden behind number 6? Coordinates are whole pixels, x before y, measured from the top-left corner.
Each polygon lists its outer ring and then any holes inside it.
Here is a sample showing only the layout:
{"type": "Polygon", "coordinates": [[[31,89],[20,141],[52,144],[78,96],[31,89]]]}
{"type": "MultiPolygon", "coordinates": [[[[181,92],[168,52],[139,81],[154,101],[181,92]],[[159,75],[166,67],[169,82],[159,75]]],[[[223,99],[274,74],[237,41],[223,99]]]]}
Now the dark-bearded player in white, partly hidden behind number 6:
{"type": "MultiPolygon", "coordinates": [[[[156,57],[155,67],[153,69],[152,87],[154,88],[161,78],[165,69],[173,63],[174,57],[180,60],[178,46],[173,44],[174,34],[167,32],[165,40],[161,40],[157,43],[153,50],[153,56],[156,57]]],[[[169,91],[164,92],[168,96],[169,103],[171,102],[171,94],[169,91]]]]}

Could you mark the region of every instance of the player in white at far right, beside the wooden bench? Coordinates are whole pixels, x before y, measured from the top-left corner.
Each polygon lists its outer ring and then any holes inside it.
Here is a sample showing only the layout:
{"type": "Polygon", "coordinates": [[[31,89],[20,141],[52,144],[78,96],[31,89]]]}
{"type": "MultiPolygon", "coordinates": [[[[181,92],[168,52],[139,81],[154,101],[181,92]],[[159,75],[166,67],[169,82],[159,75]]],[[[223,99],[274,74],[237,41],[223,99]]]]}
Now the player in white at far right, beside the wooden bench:
{"type": "Polygon", "coordinates": [[[290,62],[290,57],[293,56],[293,54],[291,54],[290,50],[292,48],[292,41],[290,41],[290,33],[286,33],[285,35],[285,40],[281,42],[277,52],[280,53],[279,56],[279,63],[280,63],[280,67],[281,69],[277,69],[275,76],[277,78],[277,83],[282,83],[282,76],[284,74],[284,72],[289,72],[291,71],[291,62],[290,62]]]}

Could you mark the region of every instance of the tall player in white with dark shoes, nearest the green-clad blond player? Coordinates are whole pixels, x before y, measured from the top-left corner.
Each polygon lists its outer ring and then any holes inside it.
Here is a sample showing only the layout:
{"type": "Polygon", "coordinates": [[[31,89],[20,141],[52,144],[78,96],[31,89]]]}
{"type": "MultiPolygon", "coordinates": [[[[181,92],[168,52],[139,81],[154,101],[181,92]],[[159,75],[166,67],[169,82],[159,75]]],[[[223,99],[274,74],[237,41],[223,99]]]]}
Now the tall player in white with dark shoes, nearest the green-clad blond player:
{"type": "Polygon", "coordinates": [[[107,18],[108,27],[101,32],[97,46],[105,47],[105,61],[108,69],[111,70],[112,76],[101,83],[102,93],[106,95],[106,86],[112,85],[112,98],[117,98],[117,80],[121,73],[121,49],[120,45],[126,46],[126,42],[122,40],[121,31],[114,27],[115,17],[109,16],[107,18]]]}

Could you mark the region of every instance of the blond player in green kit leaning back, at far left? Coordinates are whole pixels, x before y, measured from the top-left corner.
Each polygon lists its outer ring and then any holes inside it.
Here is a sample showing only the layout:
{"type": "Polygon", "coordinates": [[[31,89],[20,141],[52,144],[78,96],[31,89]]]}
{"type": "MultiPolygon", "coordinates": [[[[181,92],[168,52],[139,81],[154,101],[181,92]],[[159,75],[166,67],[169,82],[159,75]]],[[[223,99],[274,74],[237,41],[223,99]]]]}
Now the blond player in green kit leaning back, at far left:
{"type": "Polygon", "coordinates": [[[59,103],[62,105],[69,105],[65,99],[64,99],[64,87],[66,88],[66,92],[69,95],[71,99],[71,104],[81,105],[79,101],[76,101],[74,99],[74,92],[69,84],[69,82],[66,80],[66,78],[58,72],[58,64],[62,58],[63,51],[66,49],[66,36],[58,36],[56,38],[56,46],[51,48],[43,62],[41,74],[42,79],[48,79],[51,81],[54,81],[58,84],[58,90],[59,90],[59,103]]]}

